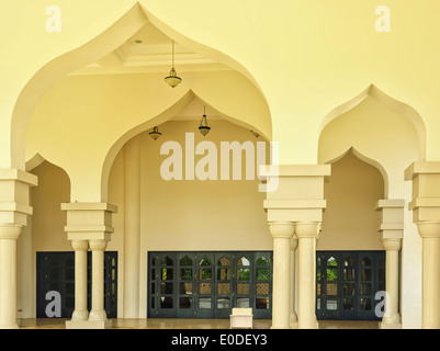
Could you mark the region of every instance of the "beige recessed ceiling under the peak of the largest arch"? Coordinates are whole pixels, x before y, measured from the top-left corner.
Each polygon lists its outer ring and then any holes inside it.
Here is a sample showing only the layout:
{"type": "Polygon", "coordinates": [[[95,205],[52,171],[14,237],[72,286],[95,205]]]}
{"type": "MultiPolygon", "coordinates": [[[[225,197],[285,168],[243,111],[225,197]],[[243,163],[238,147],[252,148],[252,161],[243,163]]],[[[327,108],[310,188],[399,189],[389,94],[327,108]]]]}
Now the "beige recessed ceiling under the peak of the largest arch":
{"type": "MultiPolygon", "coordinates": [[[[147,22],[113,53],[71,75],[168,73],[172,66],[171,53],[172,39],[147,22]]],[[[178,72],[230,69],[179,43],[174,43],[174,68],[178,72]]]]}

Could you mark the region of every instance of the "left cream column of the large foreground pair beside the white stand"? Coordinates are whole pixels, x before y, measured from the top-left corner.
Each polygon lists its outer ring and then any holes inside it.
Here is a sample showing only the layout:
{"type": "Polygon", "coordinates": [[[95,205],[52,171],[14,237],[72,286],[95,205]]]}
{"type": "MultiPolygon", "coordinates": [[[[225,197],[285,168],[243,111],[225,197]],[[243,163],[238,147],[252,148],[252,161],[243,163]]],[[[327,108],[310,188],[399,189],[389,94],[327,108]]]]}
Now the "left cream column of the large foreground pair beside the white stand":
{"type": "Polygon", "coordinates": [[[273,238],[272,329],[290,329],[290,240],[291,222],[269,223],[273,238]]]}

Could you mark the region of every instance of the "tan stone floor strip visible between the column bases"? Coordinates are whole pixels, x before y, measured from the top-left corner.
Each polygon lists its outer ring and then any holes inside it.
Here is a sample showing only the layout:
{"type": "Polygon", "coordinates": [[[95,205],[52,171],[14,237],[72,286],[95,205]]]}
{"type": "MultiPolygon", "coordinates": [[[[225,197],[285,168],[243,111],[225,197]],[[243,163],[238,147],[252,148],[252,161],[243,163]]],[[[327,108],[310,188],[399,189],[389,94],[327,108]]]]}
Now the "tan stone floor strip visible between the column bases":
{"type": "MultiPolygon", "coordinates": [[[[21,329],[65,329],[65,318],[20,319],[21,329]]],[[[112,329],[229,329],[228,319],[112,319],[112,329]]],[[[271,319],[255,319],[253,329],[270,329],[271,319]]],[[[377,329],[377,321],[320,320],[319,329],[377,329]]]]}

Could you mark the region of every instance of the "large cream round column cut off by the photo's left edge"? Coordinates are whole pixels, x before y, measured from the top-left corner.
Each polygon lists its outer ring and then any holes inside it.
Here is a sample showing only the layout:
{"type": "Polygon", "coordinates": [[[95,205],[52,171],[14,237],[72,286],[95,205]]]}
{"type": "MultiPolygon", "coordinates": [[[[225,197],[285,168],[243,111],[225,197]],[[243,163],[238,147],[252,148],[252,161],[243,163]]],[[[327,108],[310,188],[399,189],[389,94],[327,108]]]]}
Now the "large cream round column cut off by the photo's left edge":
{"type": "Polygon", "coordinates": [[[0,225],[0,329],[16,329],[16,239],[19,225],[0,225]]]}

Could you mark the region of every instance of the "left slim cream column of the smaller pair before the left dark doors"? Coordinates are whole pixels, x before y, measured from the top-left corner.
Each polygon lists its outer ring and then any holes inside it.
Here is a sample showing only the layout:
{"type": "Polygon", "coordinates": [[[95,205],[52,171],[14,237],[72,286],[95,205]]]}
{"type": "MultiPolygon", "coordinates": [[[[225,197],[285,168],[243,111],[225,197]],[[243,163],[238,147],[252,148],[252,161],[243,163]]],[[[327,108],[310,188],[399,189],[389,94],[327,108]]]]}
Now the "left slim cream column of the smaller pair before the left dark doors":
{"type": "Polygon", "coordinates": [[[72,240],[71,246],[75,250],[75,310],[71,315],[71,320],[88,320],[87,251],[89,242],[87,240],[72,240]]]}

